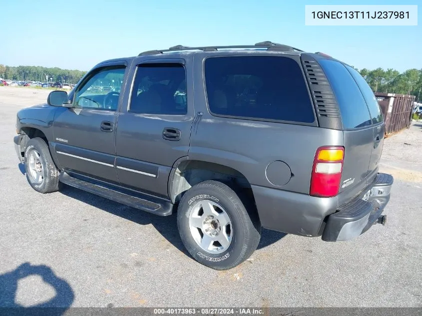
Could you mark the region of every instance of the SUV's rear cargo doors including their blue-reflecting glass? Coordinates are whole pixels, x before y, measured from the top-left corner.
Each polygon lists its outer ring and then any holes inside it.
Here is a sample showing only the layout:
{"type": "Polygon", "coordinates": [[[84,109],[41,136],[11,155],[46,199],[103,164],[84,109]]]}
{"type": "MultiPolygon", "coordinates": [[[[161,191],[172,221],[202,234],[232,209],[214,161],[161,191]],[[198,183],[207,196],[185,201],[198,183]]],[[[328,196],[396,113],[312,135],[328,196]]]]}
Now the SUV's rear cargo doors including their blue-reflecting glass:
{"type": "Polygon", "coordinates": [[[384,143],[383,115],[358,71],[336,60],[318,62],[336,96],[343,123],[345,158],[339,189],[342,203],[360,193],[378,173],[384,143]]]}

